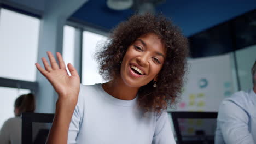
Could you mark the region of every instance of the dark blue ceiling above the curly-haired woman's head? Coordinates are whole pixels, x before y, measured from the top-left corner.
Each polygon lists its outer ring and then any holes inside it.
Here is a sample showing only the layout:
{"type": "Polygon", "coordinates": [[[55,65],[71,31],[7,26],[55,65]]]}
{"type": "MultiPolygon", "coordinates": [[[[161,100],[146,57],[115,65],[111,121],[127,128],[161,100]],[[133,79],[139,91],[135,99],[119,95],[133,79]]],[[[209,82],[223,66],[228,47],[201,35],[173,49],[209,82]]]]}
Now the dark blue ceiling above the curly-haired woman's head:
{"type": "MultiPolygon", "coordinates": [[[[156,13],[162,13],[171,18],[187,36],[216,26],[256,8],[255,0],[166,0],[161,3],[155,6],[156,13]]],[[[109,31],[133,13],[135,11],[132,9],[112,10],[107,7],[106,0],[89,0],[71,17],[109,31]]]]}

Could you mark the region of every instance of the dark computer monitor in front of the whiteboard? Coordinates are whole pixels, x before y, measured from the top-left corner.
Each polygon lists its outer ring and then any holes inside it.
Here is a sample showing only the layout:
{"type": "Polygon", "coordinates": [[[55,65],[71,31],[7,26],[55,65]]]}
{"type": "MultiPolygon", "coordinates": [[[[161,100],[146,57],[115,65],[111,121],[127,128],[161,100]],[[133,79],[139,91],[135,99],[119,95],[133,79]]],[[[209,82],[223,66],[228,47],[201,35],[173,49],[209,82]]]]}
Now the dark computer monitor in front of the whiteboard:
{"type": "Polygon", "coordinates": [[[170,112],[178,144],[214,144],[217,112],[170,112]]]}

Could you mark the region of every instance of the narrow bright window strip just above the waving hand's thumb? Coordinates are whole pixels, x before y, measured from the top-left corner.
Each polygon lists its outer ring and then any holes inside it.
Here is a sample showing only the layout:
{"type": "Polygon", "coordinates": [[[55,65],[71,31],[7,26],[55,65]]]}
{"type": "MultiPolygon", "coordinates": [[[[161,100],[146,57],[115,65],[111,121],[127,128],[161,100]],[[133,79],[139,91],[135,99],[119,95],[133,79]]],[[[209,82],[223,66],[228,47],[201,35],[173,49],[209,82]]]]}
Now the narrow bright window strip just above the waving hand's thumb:
{"type": "MultiPolygon", "coordinates": [[[[68,63],[71,63],[74,66],[74,49],[75,28],[66,25],[63,29],[63,59],[66,64],[66,69],[68,63]]],[[[68,74],[70,75],[69,71],[68,74]]]]}

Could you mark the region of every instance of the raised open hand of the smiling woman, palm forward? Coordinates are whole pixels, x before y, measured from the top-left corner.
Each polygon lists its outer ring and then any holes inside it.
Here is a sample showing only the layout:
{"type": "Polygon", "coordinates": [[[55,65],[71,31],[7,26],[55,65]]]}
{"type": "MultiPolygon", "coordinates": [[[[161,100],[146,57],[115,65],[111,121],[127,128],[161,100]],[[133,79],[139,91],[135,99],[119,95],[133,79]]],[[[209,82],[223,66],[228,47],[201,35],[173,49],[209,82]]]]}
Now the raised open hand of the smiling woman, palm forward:
{"type": "Polygon", "coordinates": [[[68,63],[68,70],[71,73],[71,76],[69,76],[61,54],[59,52],[56,53],[59,65],[51,52],[47,52],[47,54],[51,65],[49,65],[46,58],[42,57],[45,69],[39,63],[36,63],[37,69],[54,87],[59,95],[58,100],[72,101],[76,104],[80,91],[80,77],[77,70],[71,63],[68,63]]]}

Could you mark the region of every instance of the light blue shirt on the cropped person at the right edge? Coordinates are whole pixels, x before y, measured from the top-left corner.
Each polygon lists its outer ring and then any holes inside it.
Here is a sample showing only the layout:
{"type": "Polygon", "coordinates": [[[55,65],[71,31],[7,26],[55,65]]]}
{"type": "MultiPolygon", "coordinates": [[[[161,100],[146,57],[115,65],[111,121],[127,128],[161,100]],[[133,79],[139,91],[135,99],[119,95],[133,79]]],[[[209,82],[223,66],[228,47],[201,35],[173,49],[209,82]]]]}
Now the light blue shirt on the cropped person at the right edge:
{"type": "Polygon", "coordinates": [[[215,143],[256,143],[256,94],[252,89],[236,92],[220,104],[215,143]]]}

